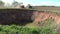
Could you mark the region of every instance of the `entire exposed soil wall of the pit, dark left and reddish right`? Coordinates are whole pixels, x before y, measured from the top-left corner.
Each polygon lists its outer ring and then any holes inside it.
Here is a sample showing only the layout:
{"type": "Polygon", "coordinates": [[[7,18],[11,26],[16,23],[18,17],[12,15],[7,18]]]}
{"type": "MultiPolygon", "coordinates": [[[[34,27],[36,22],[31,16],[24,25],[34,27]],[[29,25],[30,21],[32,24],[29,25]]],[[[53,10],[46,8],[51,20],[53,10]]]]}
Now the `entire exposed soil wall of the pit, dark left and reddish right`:
{"type": "Polygon", "coordinates": [[[1,9],[0,10],[0,24],[20,24],[26,25],[28,23],[40,24],[48,18],[54,19],[59,24],[60,15],[36,10],[24,9],[1,9]]]}

